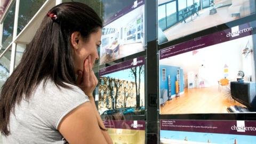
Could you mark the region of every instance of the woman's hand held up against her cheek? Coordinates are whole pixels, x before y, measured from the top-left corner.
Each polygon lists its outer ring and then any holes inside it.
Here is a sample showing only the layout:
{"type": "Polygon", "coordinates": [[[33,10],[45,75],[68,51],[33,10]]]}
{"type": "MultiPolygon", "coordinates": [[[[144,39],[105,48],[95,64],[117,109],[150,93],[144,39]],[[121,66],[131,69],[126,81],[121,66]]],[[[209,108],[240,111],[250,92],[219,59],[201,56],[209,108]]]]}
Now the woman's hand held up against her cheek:
{"type": "Polygon", "coordinates": [[[84,71],[78,71],[76,84],[84,91],[88,97],[92,97],[92,92],[98,84],[98,79],[92,70],[91,55],[84,61],[84,71]]]}

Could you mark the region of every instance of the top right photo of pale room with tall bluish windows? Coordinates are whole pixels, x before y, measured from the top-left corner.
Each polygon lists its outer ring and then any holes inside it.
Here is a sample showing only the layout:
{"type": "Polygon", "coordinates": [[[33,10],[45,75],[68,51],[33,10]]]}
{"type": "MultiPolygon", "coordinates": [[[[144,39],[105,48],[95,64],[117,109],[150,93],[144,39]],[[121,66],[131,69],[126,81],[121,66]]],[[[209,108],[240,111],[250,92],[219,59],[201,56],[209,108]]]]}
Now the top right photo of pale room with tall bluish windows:
{"type": "Polygon", "coordinates": [[[253,0],[158,0],[158,42],[169,42],[254,13],[253,0]]]}

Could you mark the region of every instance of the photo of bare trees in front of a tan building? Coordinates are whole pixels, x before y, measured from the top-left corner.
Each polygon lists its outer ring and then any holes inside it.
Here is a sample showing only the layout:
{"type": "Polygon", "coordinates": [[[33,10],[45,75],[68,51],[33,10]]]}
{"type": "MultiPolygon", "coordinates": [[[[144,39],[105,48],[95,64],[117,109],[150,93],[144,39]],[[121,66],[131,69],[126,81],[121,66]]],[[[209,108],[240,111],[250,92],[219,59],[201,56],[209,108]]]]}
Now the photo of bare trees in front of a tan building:
{"type": "Polygon", "coordinates": [[[140,92],[143,91],[143,89],[141,91],[141,86],[144,86],[142,85],[144,71],[144,66],[126,69],[124,73],[127,74],[129,81],[121,77],[101,76],[99,78],[100,113],[109,109],[143,106],[140,92]]]}

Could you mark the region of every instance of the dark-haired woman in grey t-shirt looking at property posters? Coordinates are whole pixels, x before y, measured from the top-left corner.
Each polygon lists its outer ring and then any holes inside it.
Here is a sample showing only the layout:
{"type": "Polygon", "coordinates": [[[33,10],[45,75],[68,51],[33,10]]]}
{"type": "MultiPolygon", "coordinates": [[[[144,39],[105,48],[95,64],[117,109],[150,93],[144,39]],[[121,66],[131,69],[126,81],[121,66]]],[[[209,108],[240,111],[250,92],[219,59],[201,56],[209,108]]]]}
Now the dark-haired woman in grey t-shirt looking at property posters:
{"type": "Polygon", "coordinates": [[[113,143],[92,96],[101,28],[82,3],[62,3],[46,14],[2,87],[4,143],[113,143]]]}

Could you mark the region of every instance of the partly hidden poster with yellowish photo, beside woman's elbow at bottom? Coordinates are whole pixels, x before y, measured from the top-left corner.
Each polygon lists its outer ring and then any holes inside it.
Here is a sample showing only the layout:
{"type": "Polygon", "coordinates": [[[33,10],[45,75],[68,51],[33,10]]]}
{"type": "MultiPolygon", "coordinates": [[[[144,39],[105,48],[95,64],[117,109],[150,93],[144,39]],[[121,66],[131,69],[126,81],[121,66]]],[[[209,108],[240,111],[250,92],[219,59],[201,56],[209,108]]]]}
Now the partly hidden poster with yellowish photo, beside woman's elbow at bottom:
{"type": "Polygon", "coordinates": [[[103,121],[113,143],[145,143],[145,121],[103,121]]]}

